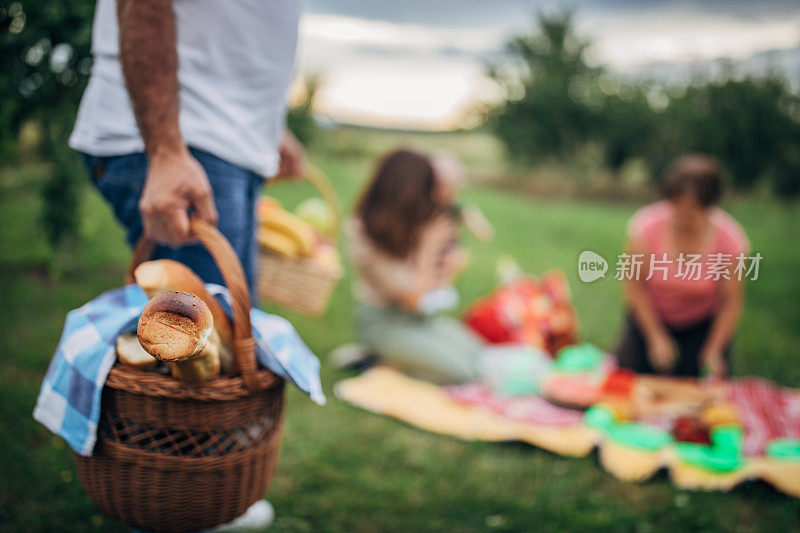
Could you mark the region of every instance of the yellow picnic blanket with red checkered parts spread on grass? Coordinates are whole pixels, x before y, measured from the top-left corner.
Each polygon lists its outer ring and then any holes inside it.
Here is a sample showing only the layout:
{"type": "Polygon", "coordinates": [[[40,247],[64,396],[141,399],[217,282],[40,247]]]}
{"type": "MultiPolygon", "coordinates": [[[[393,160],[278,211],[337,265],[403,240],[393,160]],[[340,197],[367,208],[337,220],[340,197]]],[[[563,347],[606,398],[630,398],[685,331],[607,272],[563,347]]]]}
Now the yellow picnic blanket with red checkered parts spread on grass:
{"type": "Polygon", "coordinates": [[[597,448],[601,465],[628,481],[649,479],[666,468],[673,483],[684,489],[730,490],[758,478],[800,497],[800,462],[763,455],[770,440],[799,435],[796,409],[800,391],[765,380],[731,384],[729,397],[742,413],[748,457],[741,468],[725,473],[682,461],[672,446],[651,452],[607,439],[602,431],[585,423],[582,411],[553,405],[538,396],[500,397],[476,383],[441,387],[379,366],[338,382],[334,393],[356,407],[464,440],[521,441],[574,457],[584,457],[597,448]],[[759,422],[753,423],[753,418],[759,422]]]}

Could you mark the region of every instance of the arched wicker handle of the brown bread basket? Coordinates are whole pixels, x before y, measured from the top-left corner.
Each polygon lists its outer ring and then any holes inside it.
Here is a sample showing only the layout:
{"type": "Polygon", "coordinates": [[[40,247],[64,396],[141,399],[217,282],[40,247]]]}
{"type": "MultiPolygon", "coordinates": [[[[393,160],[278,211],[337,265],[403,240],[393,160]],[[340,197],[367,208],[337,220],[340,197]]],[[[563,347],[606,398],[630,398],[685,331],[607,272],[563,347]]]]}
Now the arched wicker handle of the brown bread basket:
{"type": "MultiPolygon", "coordinates": [[[[250,324],[250,290],[242,264],[228,239],[220,231],[198,218],[189,219],[189,233],[208,250],[217,268],[222,273],[233,301],[233,370],[242,377],[242,382],[251,391],[258,390],[256,377],[256,343],[250,324]]],[[[125,277],[126,283],[134,283],[133,272],[141,263],[150,260],[155,251],[155,242],[142,236],[133,249],[131,265],[125,277]]]]}

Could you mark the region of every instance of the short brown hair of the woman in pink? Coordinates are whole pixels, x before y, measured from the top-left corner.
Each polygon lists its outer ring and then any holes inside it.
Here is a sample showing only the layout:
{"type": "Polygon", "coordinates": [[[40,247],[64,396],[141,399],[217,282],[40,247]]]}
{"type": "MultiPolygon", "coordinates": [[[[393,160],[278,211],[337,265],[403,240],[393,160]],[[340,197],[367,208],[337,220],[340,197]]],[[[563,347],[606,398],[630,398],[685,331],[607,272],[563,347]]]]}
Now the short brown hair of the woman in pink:
{"type": "Polygon", "coordinates": [[[700,205],[708,207],[719,203],[724,181],[725,174],[719,161],[705,154],[686,154],[673,161],[667,169],[662,192],[664,198],[670,200],[691,194],[700,205]]]}

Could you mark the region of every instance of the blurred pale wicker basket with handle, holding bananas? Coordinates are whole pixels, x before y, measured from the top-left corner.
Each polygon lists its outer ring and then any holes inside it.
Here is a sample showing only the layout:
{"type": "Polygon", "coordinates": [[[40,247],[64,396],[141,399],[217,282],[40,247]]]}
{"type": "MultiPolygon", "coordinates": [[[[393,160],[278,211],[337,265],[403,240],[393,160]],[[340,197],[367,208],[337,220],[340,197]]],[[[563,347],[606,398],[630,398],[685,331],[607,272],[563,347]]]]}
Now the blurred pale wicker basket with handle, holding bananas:
{"type": "MultiPolygon", "coordinates": [[[[316,167],[309,165],[303,178],[317,189],[333,212],[333,224],[325,237],[335,245],[341,223],[341,207],[336,191],[330,180],[316,167]]],[[[264,302],[317,316],[325,311],[341,277],[341,270],[322,268],[312,259],[293,259],[260,247],[258,296],[264,302]]]]}

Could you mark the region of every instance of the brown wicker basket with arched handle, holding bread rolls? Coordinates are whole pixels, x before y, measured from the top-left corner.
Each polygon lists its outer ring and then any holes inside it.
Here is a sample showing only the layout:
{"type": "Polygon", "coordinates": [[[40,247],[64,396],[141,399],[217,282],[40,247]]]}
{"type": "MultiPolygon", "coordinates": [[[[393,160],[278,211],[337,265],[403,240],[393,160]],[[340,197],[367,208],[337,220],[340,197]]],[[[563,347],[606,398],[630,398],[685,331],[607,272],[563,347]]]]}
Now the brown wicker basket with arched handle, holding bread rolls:
{"type": "MultiPolygon", "coordinates": [[[[278,456],[284,382],[257,368],[244,272],[214,227],[193,220],[191,230],[231,292],[235,375],[193,386],[115,365],[94,453],[76,455],[78,477],[97,506],[147,531],[193,531],[240,516],[266,493],[278,456]]],[[[128,282],[152,250],[140,241],[128,282]]]]}

